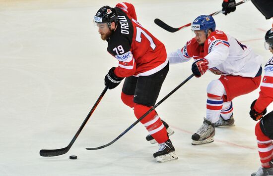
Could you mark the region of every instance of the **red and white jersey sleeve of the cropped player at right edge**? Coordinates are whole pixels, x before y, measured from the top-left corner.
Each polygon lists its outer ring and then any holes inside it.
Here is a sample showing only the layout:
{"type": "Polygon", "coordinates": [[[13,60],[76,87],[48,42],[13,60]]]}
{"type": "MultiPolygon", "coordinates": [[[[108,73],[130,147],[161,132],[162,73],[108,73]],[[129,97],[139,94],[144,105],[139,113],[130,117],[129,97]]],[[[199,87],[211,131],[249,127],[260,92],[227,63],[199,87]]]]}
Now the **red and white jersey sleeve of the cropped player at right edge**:
{"type": "Polygon", "coordinates": [[[260,96],[257,99],[254,109],[263,112],[273,101],[273,57],[269,59],[265,66],[265,76],[261,83],[260,96]]]}

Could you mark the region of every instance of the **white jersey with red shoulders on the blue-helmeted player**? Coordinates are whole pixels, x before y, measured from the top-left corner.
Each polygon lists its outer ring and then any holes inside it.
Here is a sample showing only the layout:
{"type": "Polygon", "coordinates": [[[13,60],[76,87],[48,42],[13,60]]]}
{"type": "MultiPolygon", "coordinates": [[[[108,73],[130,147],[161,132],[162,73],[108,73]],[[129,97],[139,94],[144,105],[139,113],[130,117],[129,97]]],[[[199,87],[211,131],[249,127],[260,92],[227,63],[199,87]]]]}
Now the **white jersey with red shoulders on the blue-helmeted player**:
{"type": "Polygon", "coordinates": [[[214,74],[251,78],[257,75],[263,60],[251,48],[219,30],[212,32],[204,45],[193,38],[182,49],[168,53],[170,63],[187,62],[192,57],[205,58],[214,74]]]}

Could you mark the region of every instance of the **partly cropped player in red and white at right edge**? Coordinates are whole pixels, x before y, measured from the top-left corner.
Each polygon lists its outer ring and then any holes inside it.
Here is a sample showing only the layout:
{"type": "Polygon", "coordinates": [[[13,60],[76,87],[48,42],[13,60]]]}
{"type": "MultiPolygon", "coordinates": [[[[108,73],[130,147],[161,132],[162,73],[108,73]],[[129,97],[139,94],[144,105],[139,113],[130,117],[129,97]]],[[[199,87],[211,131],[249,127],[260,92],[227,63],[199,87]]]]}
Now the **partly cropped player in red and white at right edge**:
{"type": "MultiPolygon", "coordinates": [[[[273,54],[273,28],[265,36],[266,49],[270,49],[273,54]]],[[[260,96],[251,104],[250,117],[257,121],[261,119],[255,127],[257,136],[258,151],[262,167],[257,173],[251,176],[273,176],[273,111],[267,115],[267,107],[273,101],[273,57],[269,59],[265,66],[265,76],[261,83],[260,96]],[[265,115],[265,116],[264,116],[265,115]],[[264,116],[264,117],[263,117],[264,116]]]]}

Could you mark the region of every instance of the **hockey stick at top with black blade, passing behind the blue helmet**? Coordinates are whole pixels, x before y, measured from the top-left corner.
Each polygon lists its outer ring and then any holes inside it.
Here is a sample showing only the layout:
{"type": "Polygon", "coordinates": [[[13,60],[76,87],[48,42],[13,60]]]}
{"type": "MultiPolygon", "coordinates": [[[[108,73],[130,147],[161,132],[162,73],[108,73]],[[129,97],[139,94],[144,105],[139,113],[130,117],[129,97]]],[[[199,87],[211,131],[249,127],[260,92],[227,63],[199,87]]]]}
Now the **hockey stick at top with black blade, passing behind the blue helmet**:
{"type": "MultiPolygon", "coordinates": [[[[235,5],[233,5],[233,6],[240,5],[240,4],[245,3],[245,2],[247,2],[247,1],[249,1],[249,0],[242,0],[242,1],[238,2],[238,3],[235,3],[235,5]]],[[[221,12],[222,12],[222,10],[218,10],[218,11],[216,11],[216,12],[214,12],[214,13],[209,14],[209,16],[214,16],[214,15],[217,15],[217,14],[219,14],[219,13],[221,13],[221,12]]],[[[173,27],[167,25],[166,23],[164,23],[163,21],[161,21],[161,20],[158,19],[158,18],[155,18],[155,19],[154,19],[154,23],[157,24],[159,27],[161,27],[161,28],[163,28],[163,29],[165,29],[166,31],[169,31],[169,32],[171,32],[171,33],[174,33],[174,32],[176,32],[176,31],[179,31],[179,30],[183,29],[183,28],[186,28],[186,27],[188,27],[188,26],[191,26],[191,24],[192,24],[192,23],[188,23],[188,24],[186,24],[186,25],[184,25],[184,26],[181,26],[181,27],[179,27],[179,28],[173,28],[173,27]]]]}

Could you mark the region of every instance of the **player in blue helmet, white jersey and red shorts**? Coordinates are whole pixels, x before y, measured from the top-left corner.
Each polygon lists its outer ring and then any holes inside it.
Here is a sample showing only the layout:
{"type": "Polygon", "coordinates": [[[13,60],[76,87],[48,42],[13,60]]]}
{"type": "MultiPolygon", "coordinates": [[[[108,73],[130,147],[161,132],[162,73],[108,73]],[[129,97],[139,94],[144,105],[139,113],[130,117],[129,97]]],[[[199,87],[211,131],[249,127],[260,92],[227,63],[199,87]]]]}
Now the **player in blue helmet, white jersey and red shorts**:
{"type": "Polygon", "coordinates": [[[192,23],[195,38],[182,49],[168,53],[170,63],[187,62],[201,77],[207,70],[221,75],[207,86],[206,117],[192,135],[193,145],[213,142],[215,127],[234,124],[232,99],[259,87],[262,57],[223,31],[215,30],[212,16],[201,15],[192,23]]]}

